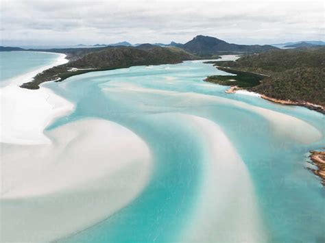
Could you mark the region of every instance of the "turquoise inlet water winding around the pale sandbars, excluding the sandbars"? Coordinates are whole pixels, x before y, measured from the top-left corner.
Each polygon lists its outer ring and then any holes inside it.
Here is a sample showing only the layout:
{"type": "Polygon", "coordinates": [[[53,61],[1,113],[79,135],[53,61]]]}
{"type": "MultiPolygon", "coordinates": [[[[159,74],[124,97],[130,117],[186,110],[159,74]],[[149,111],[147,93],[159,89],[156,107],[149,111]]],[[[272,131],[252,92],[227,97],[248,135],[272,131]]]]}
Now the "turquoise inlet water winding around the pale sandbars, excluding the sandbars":
{"type": "Polygon", "coordinates": [[[186,235],[186,221],[204,178],[202,153],[207,144],[178,114],[213,120],[230,138],[252,177],[265,241],[324,240],[324,189],[304,166],[305,153],[324,144],[324,116],[303,107],[225,94],[226,87],[202,81],[217,74],[223,72],[210,64],[184,62],[87,73],[46,84],[76,104],[72,114],[48,129],[86,117],[104,118],[141,136],[154,155],[152,180],[135,201],[63,242],[173,242],[186,235]],[[263,116],[231,100],[305,120],[322,131],[323,139],[302,144],[276,134],[263,116]]]}

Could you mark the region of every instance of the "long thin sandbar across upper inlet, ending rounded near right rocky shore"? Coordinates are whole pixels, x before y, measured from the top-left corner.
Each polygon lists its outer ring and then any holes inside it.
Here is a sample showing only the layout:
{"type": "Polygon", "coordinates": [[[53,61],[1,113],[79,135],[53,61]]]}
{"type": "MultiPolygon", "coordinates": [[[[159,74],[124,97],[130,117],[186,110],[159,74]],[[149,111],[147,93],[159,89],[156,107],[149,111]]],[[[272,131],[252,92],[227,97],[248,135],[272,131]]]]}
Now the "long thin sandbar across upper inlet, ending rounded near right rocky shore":
{"type": "MultiPolygon", "coordinates": [[[[148,111],[158,112],[158,106],[155,95],[167,95],[174,99],[174,104],[176,109],[184,109],[186,107],[202,107],[202,105],[211,105],[211,102],[224,103],[234,105],[249,112],[254,112],[259,116],[262,116],[267,120],[269,125],[272,127],[274,133],[278,133],[283,138],[290,138],[292,140],[301,142],[302,144],[308,144],[310,142],[318,141],[322,138],[322,132],[317,130],[315,127],[306,123],[304,120],[296,118],[294,116],[289,116],[281,112],[276,112],[274,110],[268,110],[263,107],[258,107],[255,105],[250,105],[242,101],[235,101],[233,99],[227,99],[224,97],[216,97],[208,94],[198,94],[195,92],[176,92],[169,90],[158,90],[154,88],[143,88],[141,86],[136,86],[136,84],[124,83],[119,84],[109,84],[104,86],[104,91],[110,95],[110,99],[114,99],[117,96],[119,99],[119,94],[123,92],[128,92],[128,96],[132,99],[133,103],[139,103],[139,105],[147,106],[148,111]],[[139,93],[142,94],[141,99],[139,99],[139,93]],[[145,104],[143,103],[143,95],[147,93],[145,104]]],[[[119,102],[120,101],[119,99],[119,102]]],[[[127,101],[126,101],[127,102],[127,101]]],[[[164,110],[165,104],[163,100],[161,101],[161,110],[164,110]]]]}

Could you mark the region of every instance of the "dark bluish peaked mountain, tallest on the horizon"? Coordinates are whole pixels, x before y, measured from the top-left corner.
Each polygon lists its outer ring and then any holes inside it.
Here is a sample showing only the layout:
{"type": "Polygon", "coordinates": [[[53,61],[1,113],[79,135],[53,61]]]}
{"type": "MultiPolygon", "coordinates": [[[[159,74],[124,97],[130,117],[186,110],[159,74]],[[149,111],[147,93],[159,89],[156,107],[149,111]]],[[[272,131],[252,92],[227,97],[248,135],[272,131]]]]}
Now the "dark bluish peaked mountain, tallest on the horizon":
{"type": "Polygon", "coordinates": [[[222,52],[237,52],[237,53],[256,53],[277,49],[271,45],[245,45],[245,44],[230,44],[224,40],[219,40],[210,36],[195,36],[193,40],[179,45],[180,48],[189,53],[197,55],[213,55],[222,52]]]}

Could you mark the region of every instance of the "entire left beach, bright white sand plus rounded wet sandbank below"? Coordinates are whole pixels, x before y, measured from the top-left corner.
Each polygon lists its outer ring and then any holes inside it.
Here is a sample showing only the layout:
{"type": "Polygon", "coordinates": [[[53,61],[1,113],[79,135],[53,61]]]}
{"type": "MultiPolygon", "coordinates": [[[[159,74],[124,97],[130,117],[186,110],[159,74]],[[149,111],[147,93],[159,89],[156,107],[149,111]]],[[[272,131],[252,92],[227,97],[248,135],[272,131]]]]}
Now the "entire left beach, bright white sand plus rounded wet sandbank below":
{"type": "Polygon", "coordinates": [[[80,231],[130,203],[149,180],[147,145],[121,125],[81,120],[45,134],[73,103],[19,85],[64,57],[1,88],[1,242],[49,242],[80,231]]]}

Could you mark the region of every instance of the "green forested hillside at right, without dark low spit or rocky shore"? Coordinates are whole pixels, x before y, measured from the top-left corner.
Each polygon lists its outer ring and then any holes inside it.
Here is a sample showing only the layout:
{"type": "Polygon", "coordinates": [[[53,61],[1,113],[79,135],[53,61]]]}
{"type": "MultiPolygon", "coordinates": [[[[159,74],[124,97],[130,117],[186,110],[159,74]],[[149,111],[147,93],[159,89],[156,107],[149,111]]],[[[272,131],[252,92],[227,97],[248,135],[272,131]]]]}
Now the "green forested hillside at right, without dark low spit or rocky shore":
{"type": "Polygon", "coordinates": [[[248,88],[267,97],[325,106],[325,47],[267,51],[215,65],[268,75],[248,88]]]}

